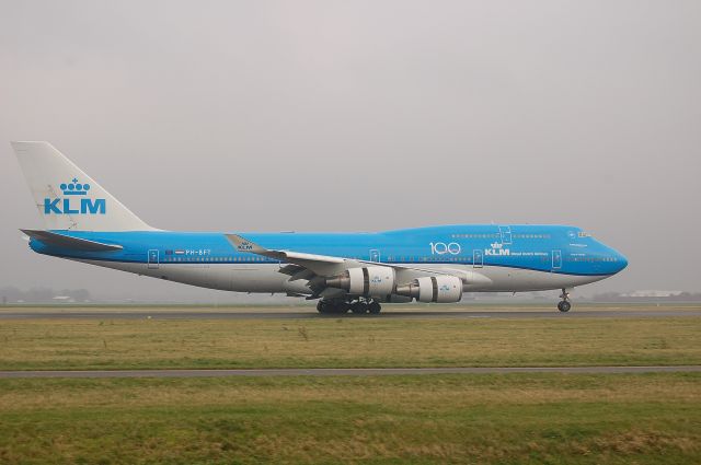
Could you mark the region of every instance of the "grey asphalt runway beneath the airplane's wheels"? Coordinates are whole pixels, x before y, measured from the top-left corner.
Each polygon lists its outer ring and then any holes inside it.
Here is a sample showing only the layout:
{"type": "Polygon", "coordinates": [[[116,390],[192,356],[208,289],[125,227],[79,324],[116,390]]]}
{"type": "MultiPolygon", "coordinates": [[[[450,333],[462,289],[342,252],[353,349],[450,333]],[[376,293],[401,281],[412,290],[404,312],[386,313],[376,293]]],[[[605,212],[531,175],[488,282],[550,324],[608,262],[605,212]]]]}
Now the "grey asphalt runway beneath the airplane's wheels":
{"type": "Polygon", "coordinates": [[[494,310],[494,311],[383,311],[379,315],[321,315],[315,311],[129,311],[107,309],[101,311],[45,311],[45,310],[8,310],[0,311],[0,319],[37,319],[37,318],[73,318],[73,319],[306,319],[306,318],[627,318],[627,317],[674,317],[701,316],[700,309],[634,309],[624,310],[576,310],[568,313],[529,310],[494,310]]]}

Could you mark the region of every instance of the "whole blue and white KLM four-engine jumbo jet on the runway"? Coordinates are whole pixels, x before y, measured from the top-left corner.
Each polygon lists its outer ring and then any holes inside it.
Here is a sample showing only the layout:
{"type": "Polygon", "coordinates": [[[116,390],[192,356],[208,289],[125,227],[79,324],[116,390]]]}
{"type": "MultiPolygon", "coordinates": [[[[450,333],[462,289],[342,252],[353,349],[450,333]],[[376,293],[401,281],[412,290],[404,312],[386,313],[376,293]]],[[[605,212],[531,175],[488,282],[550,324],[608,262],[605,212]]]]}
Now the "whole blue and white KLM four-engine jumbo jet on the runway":
{"type": "Polygon", "coordinates": [[[34,252],[169,281],[318,300],[323,314],[386,302],[456,303],[466,292],[561,290],[627,258],[576,226],[455,224],[357,233],[175,232],[150,226],[48,142],[12,142],[44,229],[34,252]]]}

